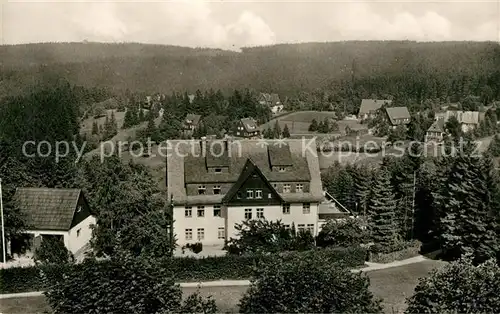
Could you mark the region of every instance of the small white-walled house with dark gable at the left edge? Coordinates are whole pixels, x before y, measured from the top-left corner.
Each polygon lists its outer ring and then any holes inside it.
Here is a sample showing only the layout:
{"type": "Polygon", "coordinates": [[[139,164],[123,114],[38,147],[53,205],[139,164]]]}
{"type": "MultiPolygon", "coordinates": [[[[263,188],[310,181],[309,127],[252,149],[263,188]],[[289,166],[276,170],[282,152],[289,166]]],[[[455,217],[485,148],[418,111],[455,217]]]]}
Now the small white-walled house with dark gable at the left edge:
{"type": "Polygon", "coordinates": [[[96,219],[79,189],[18,188],[17,206],[26,217],[34,251],[44,238],[58,238],[73,254],[88,246],[96,219]]]}

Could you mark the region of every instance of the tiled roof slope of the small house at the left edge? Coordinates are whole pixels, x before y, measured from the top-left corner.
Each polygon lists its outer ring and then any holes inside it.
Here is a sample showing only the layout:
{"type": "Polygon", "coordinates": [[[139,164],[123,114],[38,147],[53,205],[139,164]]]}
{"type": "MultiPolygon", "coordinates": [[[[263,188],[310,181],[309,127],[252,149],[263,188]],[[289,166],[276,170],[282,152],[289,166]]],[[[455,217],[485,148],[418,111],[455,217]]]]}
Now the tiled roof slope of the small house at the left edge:
{"type": "Polygon", "coordinates": [[[29,229],[68,231],[80,193],[79,189],[18,188],[14,199],[29,229]]]}

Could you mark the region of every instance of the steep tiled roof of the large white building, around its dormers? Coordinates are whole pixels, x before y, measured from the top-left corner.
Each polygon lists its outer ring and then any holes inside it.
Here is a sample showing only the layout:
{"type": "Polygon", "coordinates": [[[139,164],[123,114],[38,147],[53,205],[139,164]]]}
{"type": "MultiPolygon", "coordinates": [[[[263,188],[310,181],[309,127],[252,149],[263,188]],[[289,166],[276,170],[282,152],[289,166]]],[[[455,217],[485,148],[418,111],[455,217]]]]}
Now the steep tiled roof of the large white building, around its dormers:
{"type": "MultiPolygon", "coordinates": [[[[218,141],[224,142],[224,140],[218,141]]],[[[300,139],[228,140],[229,171],[214,173],[206,169],[206,161],[201,153],[202,148],[199,140],[168,140],[166,161],[168,193],[173,195],[176,205],[220,204],[224,197],[223,194],[188,195],[186,186],[215,182],[234,184],[243,171],[247,159],[251,159],[271,183],[309,182],[309,192],[280,194],[286,202],[320,202],[324,196],[318,153],[316,141],[314,139],[310,141],[310,143],[309,140],[304,143],[300,139]],[[289,171],[272,171],[269,164],[268,147],[283,143],[290,147],[293,165],[289,171]]],[[[210,145],[209,143],[207,141],[207,145],[210,145]]]]}

